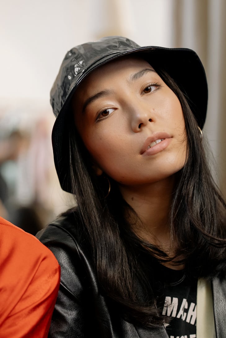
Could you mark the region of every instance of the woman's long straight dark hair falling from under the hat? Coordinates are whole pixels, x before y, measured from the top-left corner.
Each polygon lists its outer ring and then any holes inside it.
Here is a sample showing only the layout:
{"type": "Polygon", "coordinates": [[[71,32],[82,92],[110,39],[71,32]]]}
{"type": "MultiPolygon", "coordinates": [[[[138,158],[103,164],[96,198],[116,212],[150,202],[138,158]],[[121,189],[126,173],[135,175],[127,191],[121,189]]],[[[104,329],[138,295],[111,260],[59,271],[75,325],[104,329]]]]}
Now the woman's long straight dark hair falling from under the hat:
{"type": "MultiPolygon", "coordinates": [[[[192,103],[164,70],[156,71],[179,98],[186,127],[187,161],[178,173],[169,215],[170,234],[178,243],[176,257],[182,257],[179,263],[187,276],[211,278],[226,265],[226,204],[208,168],[192,103]]],[[[71,112],[68,185],[77,200],[73,212],[82,227],[81,243],[90,252],[107,299],[120,305],[127,320],[157,327],[166,319],[158,310],[161,290],[153,266],[172,259],[132,232],[125,217],[131,207],[110,178],[111,192],[105,198],[107,180],[95,175],[73,121],[71,112]]]]}

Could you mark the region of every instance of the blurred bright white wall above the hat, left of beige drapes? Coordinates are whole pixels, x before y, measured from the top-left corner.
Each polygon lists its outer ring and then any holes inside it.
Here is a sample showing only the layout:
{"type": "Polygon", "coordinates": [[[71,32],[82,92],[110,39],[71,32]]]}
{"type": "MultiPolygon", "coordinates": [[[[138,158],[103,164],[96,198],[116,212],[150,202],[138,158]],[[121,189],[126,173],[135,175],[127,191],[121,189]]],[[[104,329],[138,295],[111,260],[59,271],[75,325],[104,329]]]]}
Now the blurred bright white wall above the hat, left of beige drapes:
{"type": "Polygon", "coordinates": [[[140,45],[170,47],[170,4],[171,0],[2,1],[0,98],[48,102],[66,51],[109,33],[127,35],[140,45]]]}

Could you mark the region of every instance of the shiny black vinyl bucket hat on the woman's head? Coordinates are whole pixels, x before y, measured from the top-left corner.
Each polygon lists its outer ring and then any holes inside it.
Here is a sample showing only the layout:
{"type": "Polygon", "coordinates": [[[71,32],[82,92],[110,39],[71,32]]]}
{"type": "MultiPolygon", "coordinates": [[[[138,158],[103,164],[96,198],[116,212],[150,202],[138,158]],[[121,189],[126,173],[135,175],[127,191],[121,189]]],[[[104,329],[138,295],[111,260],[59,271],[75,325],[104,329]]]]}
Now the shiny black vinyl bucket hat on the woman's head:
{"type": "Polygon", "coordinates": [[[81,81],[93,70],[116,59],[135,54],[152,67],[161,65],[189,98],[189,105],[202,129],[207,110],[207,81],[203,65],[196,54],[187,48],[140,47],[123,37],[106,37],[72,48],[65,55],[50,92],[50,103],[56,121],[52,131],[54,162],[63,190],[70,192],[68,177],[69,152],[66,119],[70,99],[81,81]]]}

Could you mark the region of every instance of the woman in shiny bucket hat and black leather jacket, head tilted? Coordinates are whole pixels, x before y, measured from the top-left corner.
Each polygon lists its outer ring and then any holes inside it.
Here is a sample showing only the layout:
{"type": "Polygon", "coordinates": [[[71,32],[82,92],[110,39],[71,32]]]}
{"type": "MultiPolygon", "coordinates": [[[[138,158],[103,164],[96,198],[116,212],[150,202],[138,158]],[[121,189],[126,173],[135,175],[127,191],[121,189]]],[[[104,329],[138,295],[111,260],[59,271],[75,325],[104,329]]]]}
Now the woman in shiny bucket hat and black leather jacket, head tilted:
{"type": "Polygon", "coordinates": [[[223,337],[226,205],[203,150],[197,54],[86,43],[66,54],[51,102],[77,207],[38,234],[61,265],[49,336],[223,337]]]}

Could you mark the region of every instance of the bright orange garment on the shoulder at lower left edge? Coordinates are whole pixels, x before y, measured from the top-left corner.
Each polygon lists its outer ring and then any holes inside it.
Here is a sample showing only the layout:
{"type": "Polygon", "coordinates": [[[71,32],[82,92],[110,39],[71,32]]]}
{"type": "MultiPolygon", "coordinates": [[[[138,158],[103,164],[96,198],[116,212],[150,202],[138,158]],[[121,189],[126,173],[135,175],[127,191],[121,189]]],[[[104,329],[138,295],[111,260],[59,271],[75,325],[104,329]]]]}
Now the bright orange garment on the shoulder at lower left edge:
{"type": "Polygon", "coordinates": [[[0,338],[45,338],[60,283],[53,253],[0,217],[0,338]]]}

